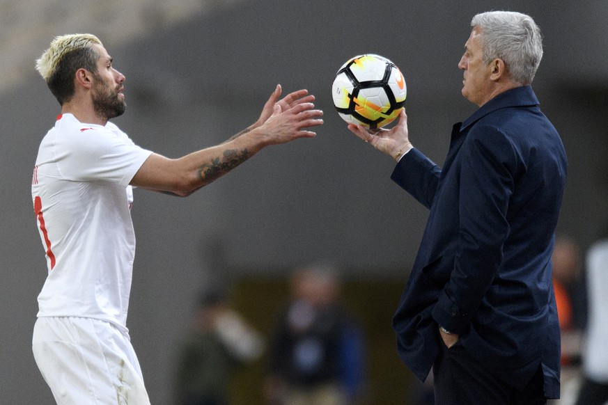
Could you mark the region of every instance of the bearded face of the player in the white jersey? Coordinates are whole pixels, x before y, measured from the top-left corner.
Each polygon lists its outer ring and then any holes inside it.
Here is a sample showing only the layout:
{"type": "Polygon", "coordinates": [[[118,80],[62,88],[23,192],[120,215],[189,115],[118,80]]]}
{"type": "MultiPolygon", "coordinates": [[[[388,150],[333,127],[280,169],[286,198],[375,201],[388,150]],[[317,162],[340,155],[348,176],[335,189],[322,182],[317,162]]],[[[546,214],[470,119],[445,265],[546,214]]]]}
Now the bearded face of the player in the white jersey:
{"type": "Polygon", "coordinates": [[[127,108],[123,91],[125,77],[112,67],[112,58],[101,45],[98,48],[100,58],[97,63],[98,71],[93,74],[93,108],[98,116],[115,118],[122,115],[127,108]]]}

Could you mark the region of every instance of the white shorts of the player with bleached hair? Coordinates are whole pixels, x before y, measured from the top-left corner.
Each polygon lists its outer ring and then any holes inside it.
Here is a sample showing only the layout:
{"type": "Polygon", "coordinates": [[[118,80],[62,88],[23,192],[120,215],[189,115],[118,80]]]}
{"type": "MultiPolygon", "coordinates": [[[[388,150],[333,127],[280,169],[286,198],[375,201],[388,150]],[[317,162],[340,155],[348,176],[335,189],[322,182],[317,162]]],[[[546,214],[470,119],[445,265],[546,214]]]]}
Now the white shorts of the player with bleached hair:
{"type": "Polygon", "coordinates": [[[109,322],[40,317],[32,351],[57,404],[150,404],[129,335],[109,322]]]}

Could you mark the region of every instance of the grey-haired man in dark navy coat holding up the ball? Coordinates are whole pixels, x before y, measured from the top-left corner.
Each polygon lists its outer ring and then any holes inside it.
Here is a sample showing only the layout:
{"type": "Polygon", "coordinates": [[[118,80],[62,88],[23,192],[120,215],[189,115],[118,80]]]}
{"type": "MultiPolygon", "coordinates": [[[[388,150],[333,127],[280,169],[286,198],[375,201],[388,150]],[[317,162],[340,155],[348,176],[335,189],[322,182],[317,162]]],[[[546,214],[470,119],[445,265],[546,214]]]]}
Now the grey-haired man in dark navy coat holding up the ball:
{"type": "Polygon", "coordinates": [[[462,95],[478,106],[454,125],[443,168],[413,148],[407,116],[376,134],[349,129],[398,161],[392,179],[430,209],[393,328],[441,405],[540,405],[559,397],[552,287],[566,152],[531,83],[543,56],[528,15],[476,15],[462,95]]]}

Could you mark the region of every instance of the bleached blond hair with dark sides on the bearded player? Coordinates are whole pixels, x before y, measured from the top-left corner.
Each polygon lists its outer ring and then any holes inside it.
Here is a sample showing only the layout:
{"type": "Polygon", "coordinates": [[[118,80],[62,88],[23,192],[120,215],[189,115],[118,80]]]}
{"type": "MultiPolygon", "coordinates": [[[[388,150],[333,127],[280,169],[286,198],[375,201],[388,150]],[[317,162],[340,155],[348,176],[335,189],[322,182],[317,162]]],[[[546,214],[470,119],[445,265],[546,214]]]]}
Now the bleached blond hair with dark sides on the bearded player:
{"type": "Polygon", "coordinates": [[[63,105],[74,95],[77,70],[84,68],[93,74],[97,72],[100,54],[93,45],[103,46],[99,38],[92,34],[60,35],[36,60],[36,70],[45,79],[59,104],[63,105]]]}

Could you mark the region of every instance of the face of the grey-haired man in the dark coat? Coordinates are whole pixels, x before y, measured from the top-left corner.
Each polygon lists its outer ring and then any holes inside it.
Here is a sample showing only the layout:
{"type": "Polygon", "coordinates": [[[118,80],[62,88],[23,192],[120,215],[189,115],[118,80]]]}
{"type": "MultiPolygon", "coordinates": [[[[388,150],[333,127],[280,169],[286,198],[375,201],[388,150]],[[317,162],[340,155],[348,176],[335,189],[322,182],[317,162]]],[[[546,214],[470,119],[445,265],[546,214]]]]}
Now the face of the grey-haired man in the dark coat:
{"type": "Polygon", "coordinates": [[[458,67],[464,70],[462,95],[470,102],[482,106],[491,98],[491,65],[483,63],[481,49],[481,29],[474,27],[465,44],[465,54],[460,58],[458,67]]]}

